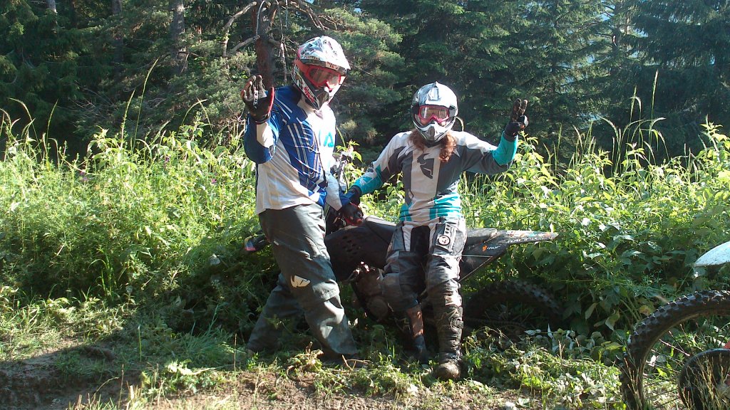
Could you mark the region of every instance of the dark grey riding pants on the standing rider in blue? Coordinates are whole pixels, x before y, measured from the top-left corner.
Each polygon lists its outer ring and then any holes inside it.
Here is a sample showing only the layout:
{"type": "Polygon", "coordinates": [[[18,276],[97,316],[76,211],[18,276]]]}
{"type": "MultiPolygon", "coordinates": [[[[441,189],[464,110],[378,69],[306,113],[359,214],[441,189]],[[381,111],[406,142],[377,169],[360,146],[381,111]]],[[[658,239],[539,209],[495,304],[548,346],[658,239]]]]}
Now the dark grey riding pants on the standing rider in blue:
{"type": "Polygon", "coordinates": [[[247,348],[254,352],[275,349],[283,330],[281,321],[297,320],[304,314],[325,355],[355,355],[355,341],[324,244],[322,207],[266,209],[258,217],[281,273],[247,348]]]}

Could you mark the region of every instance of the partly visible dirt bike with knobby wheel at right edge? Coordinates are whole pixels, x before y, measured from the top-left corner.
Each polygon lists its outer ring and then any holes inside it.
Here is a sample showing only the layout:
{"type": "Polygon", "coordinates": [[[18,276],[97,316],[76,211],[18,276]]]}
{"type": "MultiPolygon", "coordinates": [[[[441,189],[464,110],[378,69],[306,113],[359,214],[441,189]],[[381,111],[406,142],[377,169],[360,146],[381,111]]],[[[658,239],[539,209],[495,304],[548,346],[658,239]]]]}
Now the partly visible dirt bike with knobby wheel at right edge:
{"type": "MultiPolygon", "coordinates": [[[[696,269],[730,263],[730,241],[696,269]]],[[[626,344],[621,393],[629,409],[730,409],[730,292],[704,290],[659,307],[626,344]]]]}

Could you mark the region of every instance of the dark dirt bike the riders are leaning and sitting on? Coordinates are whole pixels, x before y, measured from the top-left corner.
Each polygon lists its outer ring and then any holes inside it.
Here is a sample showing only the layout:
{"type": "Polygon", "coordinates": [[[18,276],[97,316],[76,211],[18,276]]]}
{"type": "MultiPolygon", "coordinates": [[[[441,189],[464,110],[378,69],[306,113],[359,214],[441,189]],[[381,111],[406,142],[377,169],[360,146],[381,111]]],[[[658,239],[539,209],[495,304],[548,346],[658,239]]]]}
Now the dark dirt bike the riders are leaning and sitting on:
{"type": "MultiPolygon", "coordinates": [[[[337,157],[332,173],[342,190],[345,166],[353,160],[352,150],[337,157]]],[[[337,282],[353,289],[353,305],[364,309],[366,316],[378,322],[391,319],[391,309],[382,294],[381,282],[388,245],[396,225],[378,217],[368,216],[359,226],[348,226],[339,214],[326,206],[325,244],[337,282]]],[[[459,263],[458,282],[463,283],[480,268],[507,253],[515,244],[551,241],[557,233],[539,231],[505,231],[496,228],[469,229],[466,245],[459,263]]],[[[266,246],[263,235],[251,236],[246,249],[255,252],[266,246]]],[[[433,324],[428,295],[420,296],[423,320],[433,324]]],[[[525,330],[556,329],[561,322],[558,303],[541,288],[526,282],[506,280],[480,287],[464,300],[464,325],[467,329],[487,326],[516,339],[525,330]]],[[[464,335],[466,336],[464,332],[464,335]]]]}

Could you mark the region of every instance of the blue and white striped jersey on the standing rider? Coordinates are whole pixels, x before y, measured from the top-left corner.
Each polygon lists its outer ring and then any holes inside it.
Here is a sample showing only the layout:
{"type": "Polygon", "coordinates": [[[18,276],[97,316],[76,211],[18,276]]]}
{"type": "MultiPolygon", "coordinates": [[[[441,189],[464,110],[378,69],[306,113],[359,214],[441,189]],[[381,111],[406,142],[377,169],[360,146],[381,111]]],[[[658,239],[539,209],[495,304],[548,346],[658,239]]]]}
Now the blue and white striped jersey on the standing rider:
{"type": "MultiPolygon", "coordinates": [[[[257,214],[312,202],[324,206],[328,186],[339,192],[329,171],[335,126],[329,107],[315,111],[292,85],[277,88],[266,123],[256,124],[249,117],[244,150],[257,164],[257,214]]],[[[331,196],[339,204],[337,193],[331,196]]]]}

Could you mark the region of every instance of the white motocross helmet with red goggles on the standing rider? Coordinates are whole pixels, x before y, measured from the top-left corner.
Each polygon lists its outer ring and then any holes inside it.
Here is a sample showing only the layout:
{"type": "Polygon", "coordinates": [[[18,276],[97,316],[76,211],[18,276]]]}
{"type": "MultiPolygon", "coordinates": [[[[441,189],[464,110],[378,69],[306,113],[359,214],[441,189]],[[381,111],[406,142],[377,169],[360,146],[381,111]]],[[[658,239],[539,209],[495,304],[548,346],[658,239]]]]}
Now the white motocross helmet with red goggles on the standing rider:
{"type": "Polygon", "coordinates": [[[337,93],[349,69],[342,46],[331,37],[320,36],[296,50],[292,77],[312,107],[320,109],[337,93]]]}

